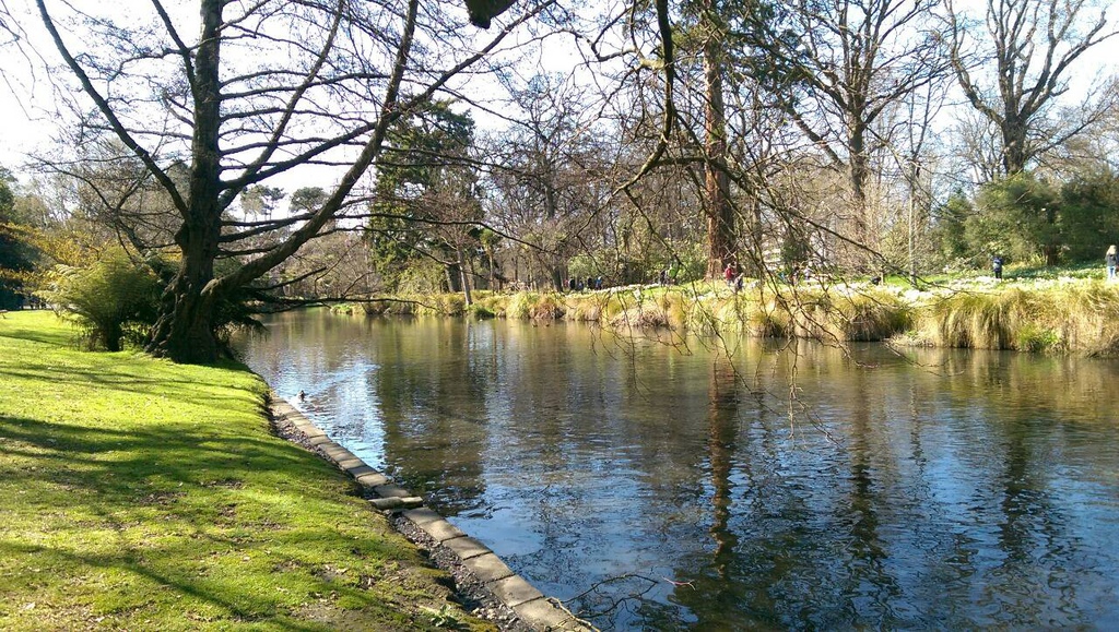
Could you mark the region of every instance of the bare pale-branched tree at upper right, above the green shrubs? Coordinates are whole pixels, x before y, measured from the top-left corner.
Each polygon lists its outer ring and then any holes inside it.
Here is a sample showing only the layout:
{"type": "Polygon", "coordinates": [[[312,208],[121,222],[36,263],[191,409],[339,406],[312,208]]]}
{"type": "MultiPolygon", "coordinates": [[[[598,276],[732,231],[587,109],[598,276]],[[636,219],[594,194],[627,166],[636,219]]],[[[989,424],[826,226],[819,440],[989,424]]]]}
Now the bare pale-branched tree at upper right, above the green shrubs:
{"type": "Polygon", "coordinates": [[[1003,176],[1025,170],[1107,111],[1113,91],[1085,100],[1073,116],[1050,116],[1069,89],[1073,64],[1116,35],[1104,9],[1094,12],[1090,0],[987,0],[981,22],[952,0],[947,9],[956,77],[971,106],[998,130],[1003,176]]]}

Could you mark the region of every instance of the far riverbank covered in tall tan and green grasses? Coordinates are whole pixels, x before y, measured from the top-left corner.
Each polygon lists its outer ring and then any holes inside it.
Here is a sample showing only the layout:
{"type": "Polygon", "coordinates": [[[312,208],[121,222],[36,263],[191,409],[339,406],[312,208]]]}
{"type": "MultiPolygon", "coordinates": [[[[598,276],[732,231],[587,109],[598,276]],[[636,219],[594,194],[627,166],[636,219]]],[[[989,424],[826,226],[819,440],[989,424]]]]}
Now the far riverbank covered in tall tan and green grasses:
{"type": "Polygon", "coordinates": [[[630,285],[593,292],[476,292],[346,304],[342,313],[594,322],[621,330],[739,331],[753,337],[1119,356],[1119,283],[1056,276],[924,284],[809,281],[630,285]]]}

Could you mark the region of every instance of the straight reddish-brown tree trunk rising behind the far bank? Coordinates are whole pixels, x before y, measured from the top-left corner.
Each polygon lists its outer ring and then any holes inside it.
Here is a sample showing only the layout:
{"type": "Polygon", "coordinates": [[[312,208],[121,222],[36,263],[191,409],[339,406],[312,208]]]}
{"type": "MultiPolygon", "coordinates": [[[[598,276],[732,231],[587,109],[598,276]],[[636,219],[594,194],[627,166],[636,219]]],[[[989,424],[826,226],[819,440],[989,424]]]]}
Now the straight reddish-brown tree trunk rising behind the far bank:
{"type": "Polygon", "coordinates": [[[713,0],[705,0],[700,23],[704,29],[704,107],[706,133],[705,192],[707,197],[707,279],[718,279],[734,257],[734,209],[731,179],[726,172],[726,107],[723,103],[723,37],[715,20],[713,0]]]}

